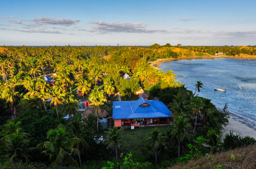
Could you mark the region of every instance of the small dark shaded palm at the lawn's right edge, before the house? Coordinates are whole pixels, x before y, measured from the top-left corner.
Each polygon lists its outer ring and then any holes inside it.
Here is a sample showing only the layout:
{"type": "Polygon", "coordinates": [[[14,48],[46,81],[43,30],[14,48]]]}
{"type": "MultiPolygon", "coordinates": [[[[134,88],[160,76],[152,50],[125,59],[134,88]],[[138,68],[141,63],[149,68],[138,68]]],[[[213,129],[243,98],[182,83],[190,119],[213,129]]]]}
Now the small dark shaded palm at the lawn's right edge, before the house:
{"type": "Polygon", "coordinates": [[[152,128],[151,136],[147,138],[147,145],[149,145],[153,149],[153,153],[155,154],[155,162],[157,164],[157,148],[160,145],[164,145],[166,136],[161,134],[161,132],[157,131],[157,128],[152,128]]]}

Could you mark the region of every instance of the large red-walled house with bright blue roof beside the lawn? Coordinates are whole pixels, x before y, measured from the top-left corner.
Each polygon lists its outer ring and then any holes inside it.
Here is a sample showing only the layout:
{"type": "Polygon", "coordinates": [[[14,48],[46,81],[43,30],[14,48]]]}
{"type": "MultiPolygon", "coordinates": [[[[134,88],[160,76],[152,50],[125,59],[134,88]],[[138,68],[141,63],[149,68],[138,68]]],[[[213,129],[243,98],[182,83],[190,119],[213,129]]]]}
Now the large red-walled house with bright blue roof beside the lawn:
{"type": "Polygon", "coordinates": [[[113,101],[114,126],[170,124],[170,110],[159,100],[113,101]]]}

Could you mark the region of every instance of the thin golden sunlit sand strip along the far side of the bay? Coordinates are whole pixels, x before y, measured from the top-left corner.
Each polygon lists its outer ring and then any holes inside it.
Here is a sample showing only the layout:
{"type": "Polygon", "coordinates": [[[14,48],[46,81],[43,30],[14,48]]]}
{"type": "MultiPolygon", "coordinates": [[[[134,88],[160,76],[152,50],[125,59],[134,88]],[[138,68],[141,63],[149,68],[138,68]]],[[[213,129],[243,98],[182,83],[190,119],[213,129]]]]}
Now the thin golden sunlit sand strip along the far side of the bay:
{"type": "Polygon", "coordinates": [[[153,68],[158,69],[161,63],[175,60],[193,60],[193,59],[256,59],[256,57],[238,57],[238,56],[182,56],[177,58],[157,59],[154,61],[148,61],[148,64],[153,68]]]}

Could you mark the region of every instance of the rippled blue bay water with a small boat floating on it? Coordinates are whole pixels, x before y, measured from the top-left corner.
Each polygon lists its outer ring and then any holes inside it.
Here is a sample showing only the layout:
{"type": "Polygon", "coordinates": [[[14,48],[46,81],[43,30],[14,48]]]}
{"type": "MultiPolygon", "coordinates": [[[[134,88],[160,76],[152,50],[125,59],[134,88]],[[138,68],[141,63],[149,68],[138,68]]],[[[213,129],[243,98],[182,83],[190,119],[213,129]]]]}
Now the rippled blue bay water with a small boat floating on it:
{"type": "Polygon", "coordinates": [[[247,59],[195,59],[169,61],[159,70],[173,70],[176,79],[184,82],[188,90],[195,91],[197,81],[204,89],[198,96],[212,100],[217,108],[228,110],[238,121],[256,128],[256,60],[247,59]],[[240,89],[240,87],[242,90],[240,89]],[[227,92],[214,88],[227,89],[227,92]]]}

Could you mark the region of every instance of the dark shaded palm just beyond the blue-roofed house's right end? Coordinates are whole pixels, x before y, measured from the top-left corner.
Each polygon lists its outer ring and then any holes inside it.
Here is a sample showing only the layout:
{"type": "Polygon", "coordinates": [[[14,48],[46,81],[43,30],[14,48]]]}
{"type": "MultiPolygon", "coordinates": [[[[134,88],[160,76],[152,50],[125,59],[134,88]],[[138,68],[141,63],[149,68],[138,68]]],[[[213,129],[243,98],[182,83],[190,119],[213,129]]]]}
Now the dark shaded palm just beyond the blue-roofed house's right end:
{"type": "Polygon", "coordinates": [[[189,128],[191,128],[191,123],[189,123],[188,118],[178,116],[176,121],[170,124],[170,136],[178,140],[178,158],[180,159],[180,146],[181,142],[185,137],[189,138],[189,128]]]}

